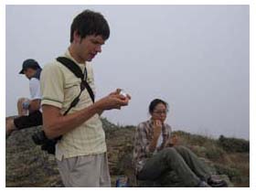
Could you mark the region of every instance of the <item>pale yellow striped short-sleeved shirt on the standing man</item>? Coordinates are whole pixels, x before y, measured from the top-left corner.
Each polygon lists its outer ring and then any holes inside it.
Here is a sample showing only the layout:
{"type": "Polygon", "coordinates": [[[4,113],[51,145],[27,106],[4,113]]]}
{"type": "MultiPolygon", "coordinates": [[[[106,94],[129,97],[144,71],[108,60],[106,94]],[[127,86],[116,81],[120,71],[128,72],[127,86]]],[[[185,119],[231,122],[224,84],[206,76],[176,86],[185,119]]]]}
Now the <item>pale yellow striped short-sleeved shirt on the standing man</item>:
{"type": "MultiPolygon", "coordinates": [[[[87,69],[87,81],[95,94],[93,72],[90,63],[78,63],[70,56],[69,50],[64,57],[72,59],[84,71],[87,69]]],[[[58,107],[61,113],[69,108],[80,93],[80,79],[69,69],[54,60],[44,67],[41,73],[40,83],[42,92],[41,104],[58,107]]],[[[78,112],[92,104],[89,92],[85,89],[80,95],[79,103],[71,108],[69,113],[78,112]]],[[[68,114],[69,114],[68,113],[68,114]]],[[[61,140],[56,145],[56,158],[69,158],[80,155],[97,155],[107,151],[105,143],[105,133],[102,129],[100,116],[95,114],[88,121],[69,133],[62,135],[61,140]]]]}

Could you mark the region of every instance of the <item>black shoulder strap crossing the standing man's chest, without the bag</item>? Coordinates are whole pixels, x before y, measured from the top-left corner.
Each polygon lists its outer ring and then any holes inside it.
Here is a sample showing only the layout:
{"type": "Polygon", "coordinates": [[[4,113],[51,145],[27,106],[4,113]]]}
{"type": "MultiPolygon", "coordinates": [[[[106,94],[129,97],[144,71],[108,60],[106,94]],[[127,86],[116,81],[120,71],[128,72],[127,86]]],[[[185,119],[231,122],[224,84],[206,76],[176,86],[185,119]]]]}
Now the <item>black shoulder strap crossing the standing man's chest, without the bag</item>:
{"type": "MultiPolygon", "coordinates": [[[[86,80],[84,80],[84,74],[82,73],[80,67],[73,60],[65,58],[65,57],[59,57],[59,58],[57,58],[57,60],[62,65],[64,65],[66,68],[68,68],[77,78],[81,79],[80,94],[86,88],[86,90],[90,94],[91,101],[94,102],[93,91],[91,90],[91,87],[88,84],[88,82],[86,80]]],[[[87,71],[85,71],[85,72],[87,72],[87,71]]],[[[77,103],[80,101],[80,94],[71,102],[69,109],[66,112],[64,112],[64,115],[66,115],[72,107],[77,105],[77,103]]]]}

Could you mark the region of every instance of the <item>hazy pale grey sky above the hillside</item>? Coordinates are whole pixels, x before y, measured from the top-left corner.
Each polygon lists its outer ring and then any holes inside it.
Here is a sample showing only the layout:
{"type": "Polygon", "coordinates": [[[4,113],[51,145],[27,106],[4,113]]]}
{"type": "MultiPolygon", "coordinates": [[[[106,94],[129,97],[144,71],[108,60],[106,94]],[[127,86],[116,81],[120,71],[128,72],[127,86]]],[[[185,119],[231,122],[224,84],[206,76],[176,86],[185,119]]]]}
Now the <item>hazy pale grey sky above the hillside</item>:
{"type": "Polygon", "coordinates": [[[173,130],[249,139],[249,5],[6,5],[6,116],[29,97],[23,60],[44,66],[64,53],[72,18],[86,8],[111,27],[93,60],[97,98],[116,88],[133,97],[103,116],[136,125],[162,98],[173,130]]]}

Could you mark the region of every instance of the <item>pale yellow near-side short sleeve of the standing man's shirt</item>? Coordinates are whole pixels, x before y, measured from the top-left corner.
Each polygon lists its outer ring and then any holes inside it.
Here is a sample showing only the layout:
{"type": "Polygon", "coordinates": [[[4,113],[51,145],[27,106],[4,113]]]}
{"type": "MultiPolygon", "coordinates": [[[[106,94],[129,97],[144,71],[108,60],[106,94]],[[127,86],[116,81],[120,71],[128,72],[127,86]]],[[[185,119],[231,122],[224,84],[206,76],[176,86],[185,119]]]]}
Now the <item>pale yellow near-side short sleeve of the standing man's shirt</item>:
{"type": "Polygon", "coordinates": [[[41,72],[42,105],[62,108],[64,101],[64,75],[57,63],[48,64],[41,72]]]}

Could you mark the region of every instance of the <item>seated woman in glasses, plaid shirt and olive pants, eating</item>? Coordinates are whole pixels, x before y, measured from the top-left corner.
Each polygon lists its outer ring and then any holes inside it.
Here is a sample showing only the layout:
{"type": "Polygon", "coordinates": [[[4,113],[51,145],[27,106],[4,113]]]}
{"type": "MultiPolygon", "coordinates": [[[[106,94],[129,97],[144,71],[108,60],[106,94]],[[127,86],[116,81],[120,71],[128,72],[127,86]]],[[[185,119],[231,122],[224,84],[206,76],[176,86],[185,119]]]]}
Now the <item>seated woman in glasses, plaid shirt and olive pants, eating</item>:
{"type": "Polygon", "coordinates": [[[154,181],[174,171],[184,187],[227,187],[187,147],[173,144],[171,126],[165,123],[167,112],[168,104],[155,99],[149,105],[151,119],[136,129],[133,162],[137,179],[154,181]]]}

